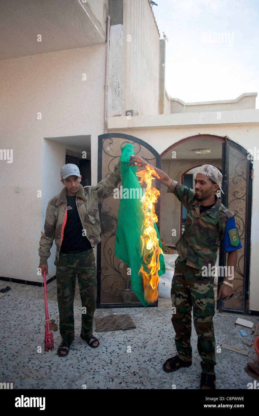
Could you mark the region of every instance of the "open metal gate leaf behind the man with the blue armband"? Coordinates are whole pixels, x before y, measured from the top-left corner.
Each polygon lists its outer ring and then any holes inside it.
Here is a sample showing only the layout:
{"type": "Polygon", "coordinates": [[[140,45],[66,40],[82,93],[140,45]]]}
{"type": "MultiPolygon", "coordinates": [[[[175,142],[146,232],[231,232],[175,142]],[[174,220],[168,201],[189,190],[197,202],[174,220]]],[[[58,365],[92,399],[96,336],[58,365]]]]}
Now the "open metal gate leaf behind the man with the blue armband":
{"type": "MultiPolygon", "coordinates": [[[[247,151],[238,144],[226,140],[222,143],[222,174],[224,195],[222,203],[234,213],[242,248],[237,250],[237,266],[234,273],[234,297],[225,302],[217,301],[217,308],[224,312],[248,314],[250,235],[252,215],[252,161],[247,151]],[[224,304],[223,307],[221,304],[224,304]]],[[[220,243],[219,265],[226,265],[226,252],[220,243]]],[[[218,283],[224,277],[219,277],[218,283]]],[[[218,290],[219,290],[218,285],[218,290]]]]}

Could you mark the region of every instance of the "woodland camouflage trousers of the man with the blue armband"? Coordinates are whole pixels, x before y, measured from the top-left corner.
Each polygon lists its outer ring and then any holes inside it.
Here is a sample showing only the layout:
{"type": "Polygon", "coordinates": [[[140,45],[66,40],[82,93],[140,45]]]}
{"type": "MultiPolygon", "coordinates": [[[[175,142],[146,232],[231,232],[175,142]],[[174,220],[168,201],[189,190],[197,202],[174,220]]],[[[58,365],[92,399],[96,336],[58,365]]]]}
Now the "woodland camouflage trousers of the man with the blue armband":
{"type": "Polygon", "coordinates": [[[175,330],[175,346],[182,359],[192,357],[190,343],[193,323],[198,336],[197,349],[202,358],[202,371],[214,372],[215,336],[212,318],[215,314],[214,277],[203,277],[202,271],[186,265],[186,261],[175,260],[172,280],[172,323],[175,330]]]}

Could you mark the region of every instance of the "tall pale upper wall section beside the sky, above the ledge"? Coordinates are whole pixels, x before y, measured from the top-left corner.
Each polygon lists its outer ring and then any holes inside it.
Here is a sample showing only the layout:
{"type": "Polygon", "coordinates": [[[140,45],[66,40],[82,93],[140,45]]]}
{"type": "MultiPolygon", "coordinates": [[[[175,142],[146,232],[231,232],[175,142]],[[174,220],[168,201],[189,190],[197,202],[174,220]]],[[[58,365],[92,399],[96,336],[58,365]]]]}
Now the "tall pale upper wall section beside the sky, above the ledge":
{"type": "Polygon", "coordinates": [[[123,0],[122,111],[158,114],[160,40],[147,0],[123,0]]]}

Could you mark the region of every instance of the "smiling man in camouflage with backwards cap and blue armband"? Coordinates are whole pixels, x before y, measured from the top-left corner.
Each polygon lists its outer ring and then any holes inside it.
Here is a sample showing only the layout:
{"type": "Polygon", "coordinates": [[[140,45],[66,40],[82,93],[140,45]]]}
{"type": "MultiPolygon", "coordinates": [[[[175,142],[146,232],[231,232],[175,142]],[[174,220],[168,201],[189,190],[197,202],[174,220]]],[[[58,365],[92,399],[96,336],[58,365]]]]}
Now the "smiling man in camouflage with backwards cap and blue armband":
{"type": "MultiPolygon", "coordinates": [[[[130,163],[147,166],[138,156],[131,157],[130,163]]],[[[154,168],[154,166],[152,166],[154,168]]],[[[237,249],[242,245],[234,222],[234,214],[220,203],[222,174],[212,165],[202,165],[195,177],[195,190],[180,185],[158,168],[161,183],[168,186],[187,209],[185,231],[176,243],[178,258],[172,280],[172,323],[175,330],[175,346],[178,354],[163,364],[165,372],[192,364],[191,311],[198,336],[197,348],[202,358],[201,389],[215,389],[215,337],[212,318],[215,313],[214,277],[204,275],[204,266],[214,266],[217,249],[223,240],[229,253],[227,265],[237,264],[237,249]],[[233,237],[231,234],[233,233],[233,237]],[[175,309],[175,311],[174,311],[175,309]],[[176,312],[176,313],[174,313],[176,312]]],[[[232,270],[231,268],[227,268],[232,270]]],[[[224,278],[218,299],[224,300],[232,295],[232,275],[224,278]]]]}

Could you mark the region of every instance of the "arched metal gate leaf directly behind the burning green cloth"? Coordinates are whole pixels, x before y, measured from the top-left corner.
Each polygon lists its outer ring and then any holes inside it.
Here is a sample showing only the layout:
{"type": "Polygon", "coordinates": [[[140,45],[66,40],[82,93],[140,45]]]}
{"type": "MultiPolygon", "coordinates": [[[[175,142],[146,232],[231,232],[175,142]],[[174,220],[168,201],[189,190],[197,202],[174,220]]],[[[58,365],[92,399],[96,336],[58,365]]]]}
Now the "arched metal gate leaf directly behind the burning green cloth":
{"type": "MultiPolygon", "coordinates": [[[[134,146],[135,154],[146,159],[157,168],[161,166],[160,154],[145,141],[121,133],[107,133],[98,136],[98,182],[105,178],[121,156],[121,148],[127,143],[134,146]]],[[[119,185],[118,185],[119,186],[119,185]]],[[[144,186],[143,186],[144,187],[144,186]]],[[[156,181],[155,187],[160,189],[156,181]]],[[[131,290],[131,276],[128,265],[114,254],[119,199],[109,196],[99,203],[101,220],[101,243],[97,245],[97,302],[98,308],[143,307],[131,290]]],[[[155,207],[159,231],[160,198],[155,207]]],[[[133,225],[134,226],[134,225],[133,225]]],[[[134,242],[132,242],[134,244],[134,242]]],[[[157,306],[158,302],[150,306],[157,306]]]]}

